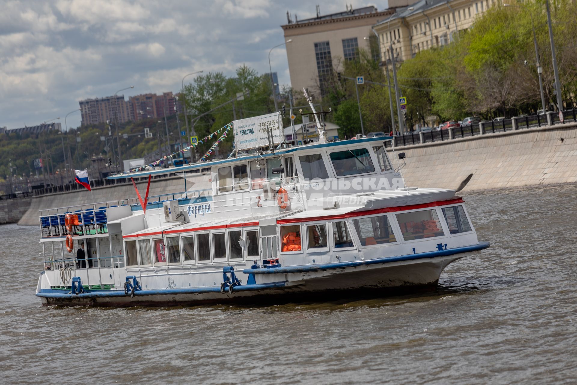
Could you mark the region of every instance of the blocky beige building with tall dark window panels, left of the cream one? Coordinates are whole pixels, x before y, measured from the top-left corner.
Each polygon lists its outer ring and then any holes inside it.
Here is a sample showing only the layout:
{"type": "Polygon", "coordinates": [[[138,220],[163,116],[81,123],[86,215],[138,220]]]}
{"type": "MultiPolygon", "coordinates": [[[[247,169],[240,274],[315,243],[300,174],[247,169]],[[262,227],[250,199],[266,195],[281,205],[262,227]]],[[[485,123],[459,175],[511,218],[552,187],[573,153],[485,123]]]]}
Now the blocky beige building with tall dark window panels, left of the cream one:
{"type": "MultiPolygon", "coordinates": [[[[406,6],[409,0],[389,0],[389,7],[406,6]]],[[[342,68],[343,60],[351,60],[358,48],[370,49],[370,39],[376,39],[371,27],[391,17],[394,9],[379,12],[374,6],[317,17],[292,20],[287,13],[288,24],[282,25],[286,44],[288,71],[291,85],[296,90],[306,88],[311,94],[323,93],[323,78],[334,68],[342,68]],[[366,39],[365,39],[366,38],[366,39]]],[[[374,40],[376,42],[376,40],[374,40]]],[[[376,44],[374,47],[376,48],[376,44]]],[[[373,53],[380,61],[378,50],[373,53]]]]}

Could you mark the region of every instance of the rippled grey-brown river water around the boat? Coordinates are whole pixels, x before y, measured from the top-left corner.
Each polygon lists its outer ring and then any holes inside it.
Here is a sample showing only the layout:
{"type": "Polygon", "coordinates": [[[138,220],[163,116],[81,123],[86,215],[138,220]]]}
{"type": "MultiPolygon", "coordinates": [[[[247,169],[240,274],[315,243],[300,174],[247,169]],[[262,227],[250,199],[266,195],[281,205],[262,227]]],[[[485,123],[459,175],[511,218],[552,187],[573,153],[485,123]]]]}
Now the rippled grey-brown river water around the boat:
{"type": "Polygon", "coordinates": [[[433,293],[279,306],[42,307],[39,229],[0,226],[1,383],[577,383],[575,186],[465,193],[433,293]]]}

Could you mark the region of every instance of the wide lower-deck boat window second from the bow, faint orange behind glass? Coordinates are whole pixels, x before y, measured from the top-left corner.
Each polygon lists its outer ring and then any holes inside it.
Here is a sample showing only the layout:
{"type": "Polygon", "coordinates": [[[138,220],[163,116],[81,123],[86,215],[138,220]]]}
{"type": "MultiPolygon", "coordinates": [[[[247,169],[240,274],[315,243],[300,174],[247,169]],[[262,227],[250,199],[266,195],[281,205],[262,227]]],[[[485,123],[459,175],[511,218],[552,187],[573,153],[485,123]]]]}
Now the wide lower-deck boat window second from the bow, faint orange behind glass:
{"type": "Polygon", "coordinates": [[[403,212],[396,215],[405,241],[443,236],[436,210],[403,212]]]}

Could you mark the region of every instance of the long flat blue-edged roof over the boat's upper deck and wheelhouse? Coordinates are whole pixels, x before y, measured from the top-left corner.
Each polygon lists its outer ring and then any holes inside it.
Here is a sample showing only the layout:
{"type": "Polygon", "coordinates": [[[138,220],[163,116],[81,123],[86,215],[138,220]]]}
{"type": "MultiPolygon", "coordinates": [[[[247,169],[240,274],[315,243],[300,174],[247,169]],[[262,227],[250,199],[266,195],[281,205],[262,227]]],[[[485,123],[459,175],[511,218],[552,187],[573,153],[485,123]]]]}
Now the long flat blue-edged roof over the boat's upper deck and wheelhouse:
{"type": "Polygon", "coordinates": [[[125,179],[125,178],[130,178],[130,177],[143,178],[143,177],[148,177],[148,175],[177,174],[177,173],[182,173],[183,171],[206,169],[207,167],[212,167],[212,166],[216,166],[216,165],[223,165],[226,163],[234,163],[234,162],[252,160],[252,159],[257,159],[257,158],[275,158],[276,156],[279,156],[279,155],[292,154],[293,152],[297,152],[297,151],[305,151],[305,150],[308,151],[311,149],[320,149],[320,148],[327,148],[327,147],[340,147],[340,146],[346,146],[346,145],[358,145],[358,144],[371,143],[371,142],[375,142],[375,141],[392,140],[392,139],[393,139],[392,136],[376,136],[376,137],[372,137],[372,138],[339,140],[339,141],[331,142],[331,143],[318,143],[318,142],[316,142],[316,143],[309,143],[309,144],[299,145],[299,146],[294,146],[294,147],[282,148],[282,149],[279,149],[278,151],[265,152],[264,154],[246,154],[246,155],[236,156],[234,158],[211,160],[209,162],[196,162],[196,163],[193,163],[192,165],[183,165],[183,166],[179,166],[179,167],[173,166],[173,167],[168,167],[166,169],[160,169],[160,170],[145,170],[145,171],[138,171],[136,173],[116,174],[116,175],[111,175],[110,177],[107,177],[107,179],[125,179]]]}

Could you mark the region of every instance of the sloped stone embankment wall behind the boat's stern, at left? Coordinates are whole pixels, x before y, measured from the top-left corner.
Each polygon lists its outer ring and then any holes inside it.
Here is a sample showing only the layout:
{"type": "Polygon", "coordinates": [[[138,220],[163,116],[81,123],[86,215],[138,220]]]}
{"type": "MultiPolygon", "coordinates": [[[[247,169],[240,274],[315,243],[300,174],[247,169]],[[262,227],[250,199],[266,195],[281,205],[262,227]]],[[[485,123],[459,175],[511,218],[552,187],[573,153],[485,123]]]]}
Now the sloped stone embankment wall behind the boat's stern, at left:
{"type": "MultiPolygon", "coordinates": [[[[187,174],[186,175],[186,190],[202,190],[210,188],[209,182],[210,174],[187,174]]],[[[147,181],[141,180],[136,183],[140,196],[144,200],[146,194],[147,181]]],[[[171,177],[163,178],[160,180],[152,180],[150,183],[149,196],[158,196],[163,194],[173,194],[185,191],[185,180],[182,177],[171,177]]],[[[92,195],[88,190],[74,190],[71,192],[57,193],[51,195],[43,195],[39,197],[32,198],[32,202],[29,205],[27,211],[21,218],[17,218],[13,222],[18,222],[18,225],[31,225],[36,226],[39,224],[39,210],[45,210],[48,208],[59,208],[59,207],[74,207],[85,204],[99,203],[99,202],[111,202],[122,199],[138,199],[136,196],[136,191],[134,191],[134,186],[132,183],[111,185],[99,188],[93,188],[92,193],[94,195],[94,200],[92,200],[92,195]]],[[[170,197],[171,198],[171,197],[170,197]]],[[[166,197],[161,197],[160,200],[167,199],[166,197]]],[[[153,201],[158,200],[158,198],[153,198],[153,201]]],[[[88,208],[88,207],[83,207],[88,208]]],[[[98,207],[97,207],[98,208],[98,207]]],[[[79,208],[74,208],[74,210],[79,210],[79,208]]],[[[72,211],[74,211],[72,210],[72,211]]],[[[59,210],[59,212],[64,212],[59,210]]],[[[51,211],[51,214],[55,214],[55,211],[51,211]]]]}

